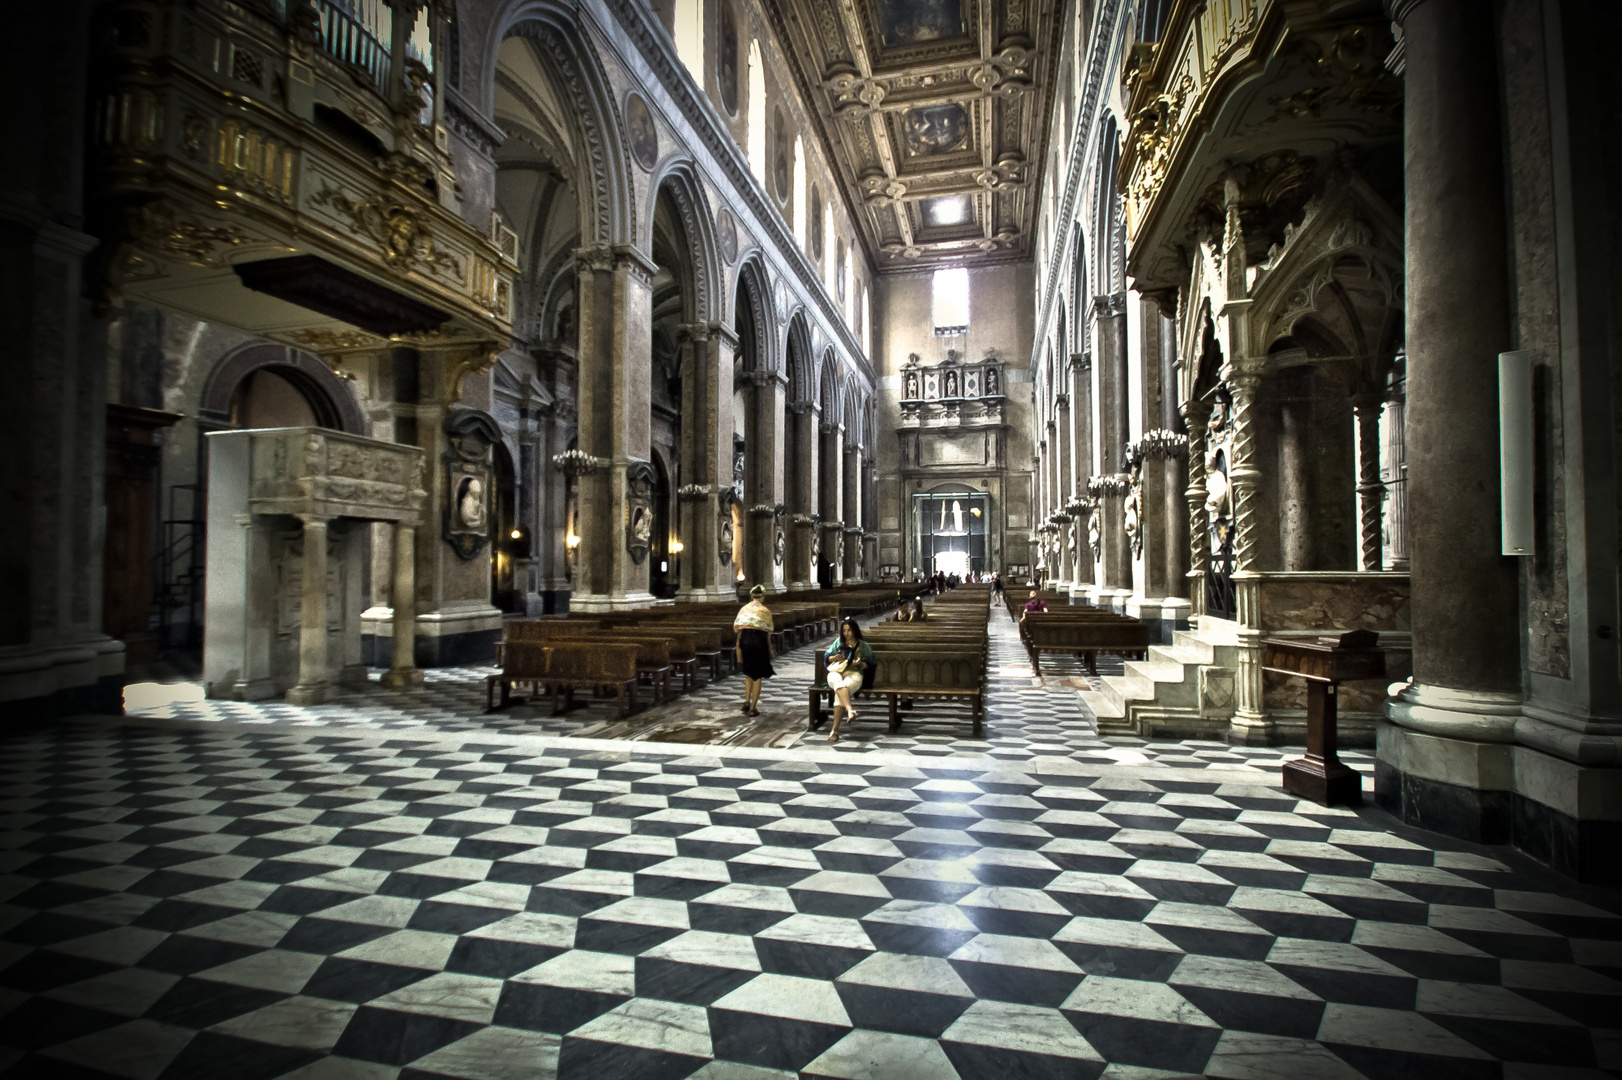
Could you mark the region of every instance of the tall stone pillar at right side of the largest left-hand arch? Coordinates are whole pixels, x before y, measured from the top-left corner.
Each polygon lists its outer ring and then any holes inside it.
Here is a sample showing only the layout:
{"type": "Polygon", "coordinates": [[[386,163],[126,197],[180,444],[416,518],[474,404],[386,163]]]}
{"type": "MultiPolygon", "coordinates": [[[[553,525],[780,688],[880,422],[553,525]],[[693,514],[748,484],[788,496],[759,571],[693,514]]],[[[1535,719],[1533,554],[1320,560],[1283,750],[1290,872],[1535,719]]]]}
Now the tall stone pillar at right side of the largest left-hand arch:
{"type": "Polygon", "coordinates": [[[657,268],[629,245],[576,251],[579,297],[579,449],[600,465],[579,478],[579,611],[647,606],[647,561],[624,537],[626,469],[649,459],[652,281],[657,268]]]}

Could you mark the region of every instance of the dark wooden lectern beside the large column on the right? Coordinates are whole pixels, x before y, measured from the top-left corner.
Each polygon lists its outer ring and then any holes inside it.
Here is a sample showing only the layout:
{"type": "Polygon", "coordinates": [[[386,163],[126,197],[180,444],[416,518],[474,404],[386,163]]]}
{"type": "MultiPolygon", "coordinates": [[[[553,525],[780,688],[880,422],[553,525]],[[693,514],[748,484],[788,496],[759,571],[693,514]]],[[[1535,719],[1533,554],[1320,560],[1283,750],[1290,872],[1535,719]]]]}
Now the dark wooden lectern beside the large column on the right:
{"type": "Polygon", "coordinates": [[[1374,631],[1338,637],[1267,637],[1262,670],[1307,681],[1307,752],[1285,762],[1285,791],[1322,806],[1362,801],[1362,777],[1335,754],[1335,704],[1341,683],[1385,676],[1385,650],[1374,631]]]}

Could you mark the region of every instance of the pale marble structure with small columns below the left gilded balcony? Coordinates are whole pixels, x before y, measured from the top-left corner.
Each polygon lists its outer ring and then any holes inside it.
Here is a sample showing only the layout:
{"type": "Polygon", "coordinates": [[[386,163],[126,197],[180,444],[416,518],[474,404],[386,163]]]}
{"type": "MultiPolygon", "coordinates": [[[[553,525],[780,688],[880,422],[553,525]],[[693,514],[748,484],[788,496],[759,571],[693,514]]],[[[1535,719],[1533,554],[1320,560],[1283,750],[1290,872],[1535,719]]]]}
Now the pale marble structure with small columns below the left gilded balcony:
{"type": "Polygon", "coordinates": [[[209,697],[318,704],[341,683],[365,681],[368,522],[394,525],[396,649],[384,686],[422,681],[412,657],[422,449],[328,428],[264,428],[211,433],[208,461],[209,697]]]}

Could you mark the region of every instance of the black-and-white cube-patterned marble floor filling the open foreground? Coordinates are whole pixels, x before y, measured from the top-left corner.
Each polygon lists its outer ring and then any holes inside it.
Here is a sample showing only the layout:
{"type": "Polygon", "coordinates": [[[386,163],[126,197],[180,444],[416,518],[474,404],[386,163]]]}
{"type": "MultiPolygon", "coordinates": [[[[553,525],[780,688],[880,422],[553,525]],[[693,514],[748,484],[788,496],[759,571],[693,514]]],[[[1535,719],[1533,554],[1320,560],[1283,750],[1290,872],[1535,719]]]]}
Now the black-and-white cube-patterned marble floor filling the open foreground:
{"type": "Polygon", "coordinates": [[[1619,911],[1221,765],[0,741],[8,1077],[1577,1080],[1619,911]]]}

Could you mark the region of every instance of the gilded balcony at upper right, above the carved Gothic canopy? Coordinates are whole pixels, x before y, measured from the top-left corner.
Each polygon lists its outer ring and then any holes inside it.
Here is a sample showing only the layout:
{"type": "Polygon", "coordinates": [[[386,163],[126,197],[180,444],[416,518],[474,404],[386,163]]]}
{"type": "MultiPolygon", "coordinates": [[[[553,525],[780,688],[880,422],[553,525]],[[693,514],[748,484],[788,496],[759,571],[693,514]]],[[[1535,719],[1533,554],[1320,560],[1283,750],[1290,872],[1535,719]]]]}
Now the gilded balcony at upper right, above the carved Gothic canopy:
{"type": "Polygon", "coordinates": [[[1246,264],[1262,263],[1337,164],[1400,206],[1393,47],[1379,0],[1176,0],[1161,41],[1134,45],[1122,71],[1119,177],[1137,287],[1186,284],[1189,251],[1221,237],[1234,199],[1246,264]]]}

